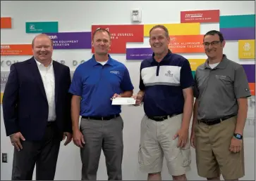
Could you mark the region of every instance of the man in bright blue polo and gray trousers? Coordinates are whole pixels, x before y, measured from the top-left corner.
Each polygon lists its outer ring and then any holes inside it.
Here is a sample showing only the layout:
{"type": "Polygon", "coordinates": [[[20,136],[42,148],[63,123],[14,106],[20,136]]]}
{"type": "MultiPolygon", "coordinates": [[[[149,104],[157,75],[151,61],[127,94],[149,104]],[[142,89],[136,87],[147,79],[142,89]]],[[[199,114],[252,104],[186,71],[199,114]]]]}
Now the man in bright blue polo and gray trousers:
{"type": "Polygon", "coordinates": [[[73,142],[80,147],[82,180],[97,180],[102,149],[108,179],[122,180],[123,119],[121,106],[111,105],[111,100],[130,98],[133,84],[126,66],[108,54],[110,43],[106,29],[94,32],[95,55],[75,69],[71,83],[73,142]]]}

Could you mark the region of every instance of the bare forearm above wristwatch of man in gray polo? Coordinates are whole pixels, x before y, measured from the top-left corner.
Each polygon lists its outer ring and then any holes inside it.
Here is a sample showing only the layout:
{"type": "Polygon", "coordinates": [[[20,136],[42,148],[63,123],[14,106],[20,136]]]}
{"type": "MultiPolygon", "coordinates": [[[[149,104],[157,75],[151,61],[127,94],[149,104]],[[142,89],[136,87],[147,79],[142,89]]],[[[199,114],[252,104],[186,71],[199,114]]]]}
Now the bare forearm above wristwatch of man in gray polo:
{"type": "Polygon", "coordinates": [[[238,115],[236,121],[236,130],[235,133],[243,135],[243,129],[245,128],[245,121],[247,118],[248,105],[238,107],[238,115]]]}

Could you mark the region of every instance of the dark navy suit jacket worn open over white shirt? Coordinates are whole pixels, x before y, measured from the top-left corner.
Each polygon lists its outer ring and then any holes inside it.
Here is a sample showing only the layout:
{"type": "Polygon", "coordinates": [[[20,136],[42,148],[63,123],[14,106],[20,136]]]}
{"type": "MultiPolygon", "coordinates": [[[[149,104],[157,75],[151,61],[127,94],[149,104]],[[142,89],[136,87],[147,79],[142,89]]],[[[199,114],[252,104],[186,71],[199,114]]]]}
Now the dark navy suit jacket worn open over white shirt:
{"type": "MultiPolygon", "coordinates": [[[[57,134],[72,131],[70,69],[53,61],[55,76],[55,106],[57,134]]],[[[42,140],[48,119],[48,102],[44,84],[35,62],[30,58],[11,65],[3,96],[6,135],[20,132],[25,140],[42,140]]]]}

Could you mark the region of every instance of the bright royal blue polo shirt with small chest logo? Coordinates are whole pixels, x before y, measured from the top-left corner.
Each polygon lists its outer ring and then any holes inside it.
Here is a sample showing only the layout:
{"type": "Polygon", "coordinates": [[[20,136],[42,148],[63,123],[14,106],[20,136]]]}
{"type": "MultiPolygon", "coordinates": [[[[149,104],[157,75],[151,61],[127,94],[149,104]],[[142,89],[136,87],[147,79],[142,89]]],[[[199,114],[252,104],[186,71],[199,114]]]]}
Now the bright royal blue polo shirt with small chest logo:
{"type": "Polygon", "coordinates": [[[121,113],[120,105],[111,105],[112,96],[133,90],[128,69],[121,62],[111,58],[105,65],[95,56],[78,65],[73,74],[69,92],[82,98],[81,116],[110,116],[121,113]]]}

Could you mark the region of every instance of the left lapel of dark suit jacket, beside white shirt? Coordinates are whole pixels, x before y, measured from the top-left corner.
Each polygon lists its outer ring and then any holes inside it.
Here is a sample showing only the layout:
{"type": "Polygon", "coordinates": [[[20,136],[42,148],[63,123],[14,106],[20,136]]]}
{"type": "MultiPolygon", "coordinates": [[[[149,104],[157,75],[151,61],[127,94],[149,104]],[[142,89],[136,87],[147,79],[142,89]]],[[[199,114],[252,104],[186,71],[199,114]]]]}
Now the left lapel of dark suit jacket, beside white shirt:
{"type": "Polygon", "coordinates": [[[35,77],[35,80],[36,80],[37,85],[39,86],[39,88],[42,92],[42,95],[44,96],[45,100],[47,100],[47,95],[46,95],[45,90],[44,90],[44,83],[42,82],[42,77],[41,77],[41,74],[40,74],[39,69],[37,67],[37,62],[35,62],[35,58],[34,57],[31,58],[28,63],[30,64],[31,72],[32,72],[33,76],[35,77]]]}

